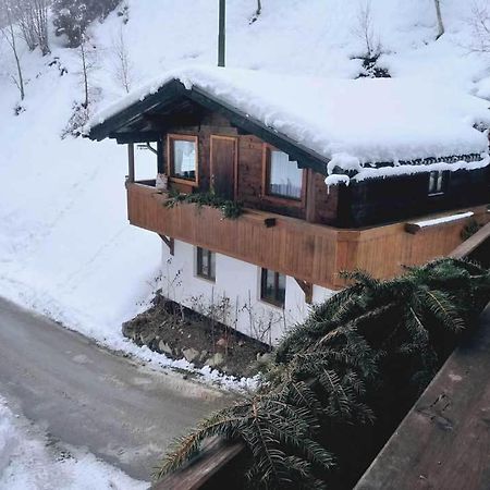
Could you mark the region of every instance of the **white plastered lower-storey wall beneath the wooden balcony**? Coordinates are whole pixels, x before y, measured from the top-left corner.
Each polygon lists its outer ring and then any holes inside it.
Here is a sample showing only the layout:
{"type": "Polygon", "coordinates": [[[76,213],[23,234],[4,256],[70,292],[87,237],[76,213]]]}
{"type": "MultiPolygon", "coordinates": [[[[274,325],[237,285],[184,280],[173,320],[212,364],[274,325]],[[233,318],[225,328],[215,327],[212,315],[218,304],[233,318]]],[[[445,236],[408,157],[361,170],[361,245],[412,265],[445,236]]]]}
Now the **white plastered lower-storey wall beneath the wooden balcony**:
{"type": "MultiPolygon", "coordinates": [[[[162,244],[162,293],[169,298],[203,313],[209,305],[230,299],[228,315],[222,320],[242,333],[275,344],[283,333],[302,321],[309,311],[305,294],[294,278],[286,278],[285,306],[275,307],[260,301],[260,268],[216,254],[216,282],[195,274],[195,247],[175,241],[174,256],[162,244]]],[[[314,286],[314,302],[333,294],[314,286]]]]}

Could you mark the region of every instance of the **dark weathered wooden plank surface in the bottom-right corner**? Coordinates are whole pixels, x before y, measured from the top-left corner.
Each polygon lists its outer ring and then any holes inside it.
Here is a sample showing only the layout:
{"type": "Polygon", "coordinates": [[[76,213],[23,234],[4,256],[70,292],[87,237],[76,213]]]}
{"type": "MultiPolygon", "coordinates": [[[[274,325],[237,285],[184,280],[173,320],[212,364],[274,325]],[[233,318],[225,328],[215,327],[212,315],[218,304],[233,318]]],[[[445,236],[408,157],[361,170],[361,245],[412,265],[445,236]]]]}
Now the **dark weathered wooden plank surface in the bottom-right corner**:
{"type": "Polygon", "coordinates": [[[490,305],[355,490],[490,488],[490,305]]]}

